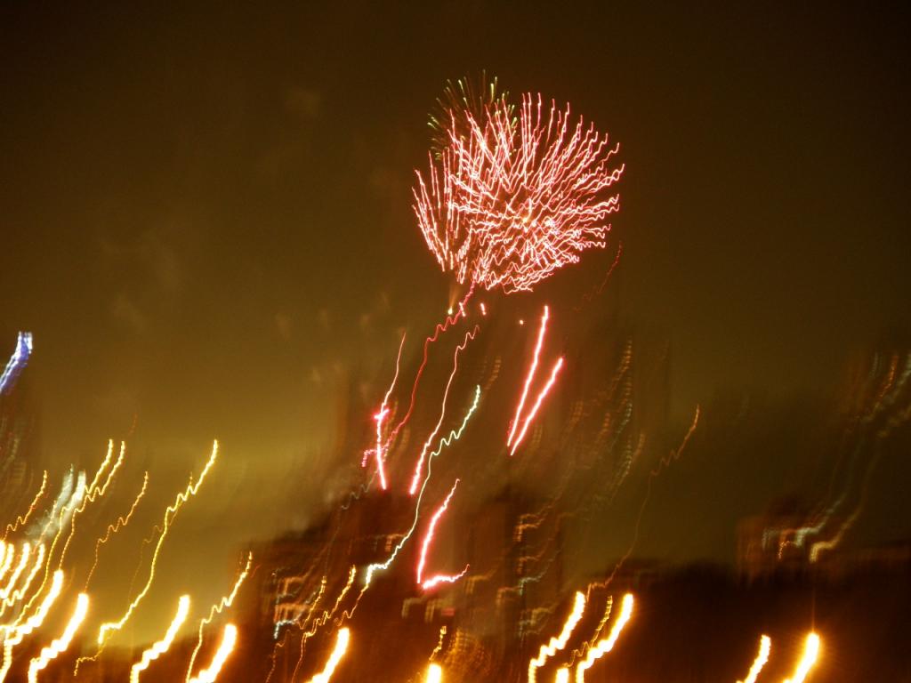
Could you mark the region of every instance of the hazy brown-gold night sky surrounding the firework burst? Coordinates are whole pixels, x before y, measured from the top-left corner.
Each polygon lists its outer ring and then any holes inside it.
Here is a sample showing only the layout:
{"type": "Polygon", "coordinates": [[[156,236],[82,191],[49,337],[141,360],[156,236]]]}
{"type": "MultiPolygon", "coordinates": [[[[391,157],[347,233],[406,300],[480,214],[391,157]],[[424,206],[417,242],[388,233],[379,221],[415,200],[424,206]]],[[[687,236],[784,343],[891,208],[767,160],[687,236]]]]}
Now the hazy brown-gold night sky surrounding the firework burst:
{"type": "Polygon", "coordinates": [[[340,372],[388,369],[446,305],[410,187],[445,80],[481,69],[619,140],[609,287],[670,338],[678,422],[732,387],[829,391],[911,322],[902,16],[188,5],[0,9],[0,334],[35,333],[52,466],[131,427],[179,478],[220,438],[223,486],[319,451],[340,372]]]}

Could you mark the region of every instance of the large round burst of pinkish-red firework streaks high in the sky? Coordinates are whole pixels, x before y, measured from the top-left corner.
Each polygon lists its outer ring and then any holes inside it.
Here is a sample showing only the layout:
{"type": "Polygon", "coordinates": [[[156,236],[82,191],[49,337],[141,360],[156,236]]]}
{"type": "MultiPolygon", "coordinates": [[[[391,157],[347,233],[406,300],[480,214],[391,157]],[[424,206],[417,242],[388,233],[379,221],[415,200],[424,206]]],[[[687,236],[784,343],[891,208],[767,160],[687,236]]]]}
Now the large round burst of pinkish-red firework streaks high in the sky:
{"type": "Polygon", "coordinates": [[[507,294],[537,282],[582,251],[606,245],[608,215],[619,209],[609,189],[619,146],[569,107],[526,95],[518,119],[505,100],[452,116],[449,143],[430,156],[428,178],[415,171],[415,215],[440,267],[459,283],[507,294]],[[459,126],[456,127],[456,122],[459,126]]]}

